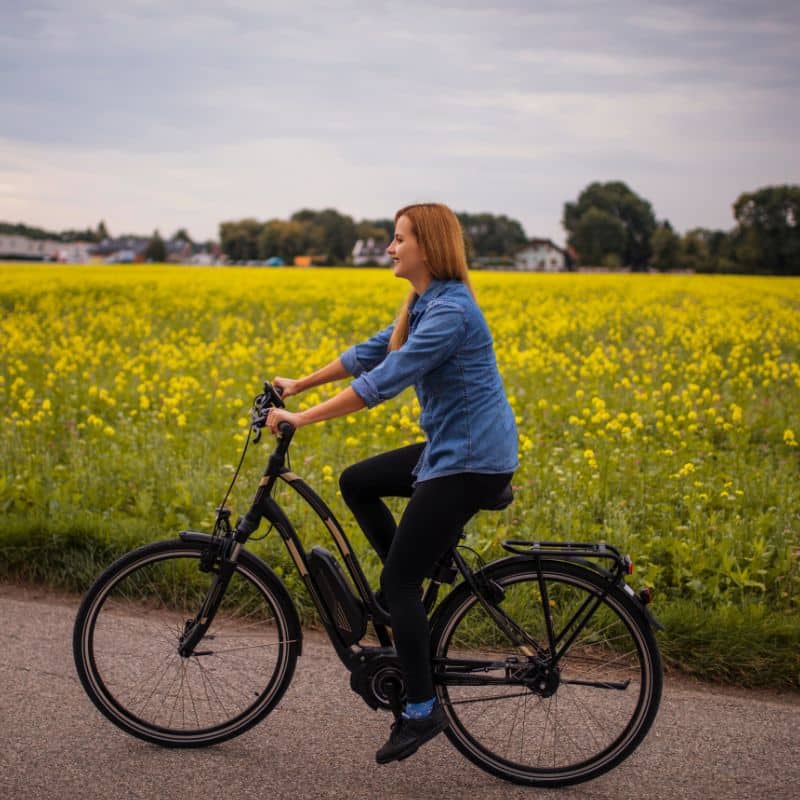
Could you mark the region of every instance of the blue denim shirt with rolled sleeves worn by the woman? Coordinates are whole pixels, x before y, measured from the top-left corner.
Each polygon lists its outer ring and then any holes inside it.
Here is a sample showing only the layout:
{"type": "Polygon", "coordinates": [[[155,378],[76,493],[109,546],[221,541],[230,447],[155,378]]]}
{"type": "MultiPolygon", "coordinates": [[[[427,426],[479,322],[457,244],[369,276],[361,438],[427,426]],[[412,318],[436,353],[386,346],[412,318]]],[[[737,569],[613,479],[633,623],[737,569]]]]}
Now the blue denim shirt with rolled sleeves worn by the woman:
{"type": "Polygon", "coordinates": [[[372,408],[413,384],[427,444],[417,481],[517,466],[517,426],[497,370],[489,327],[457,280],[432,281],[409,310],[406,343],[388,351],[394,325],[341,355],[351,386],[372,408]]]}

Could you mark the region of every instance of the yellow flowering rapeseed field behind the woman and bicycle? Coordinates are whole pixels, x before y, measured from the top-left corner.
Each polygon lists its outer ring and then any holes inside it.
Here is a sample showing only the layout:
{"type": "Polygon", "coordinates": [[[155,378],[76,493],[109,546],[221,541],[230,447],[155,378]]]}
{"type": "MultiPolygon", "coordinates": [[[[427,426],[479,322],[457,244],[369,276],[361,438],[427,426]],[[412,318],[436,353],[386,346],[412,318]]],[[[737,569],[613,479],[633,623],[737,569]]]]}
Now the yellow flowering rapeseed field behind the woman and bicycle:
{"type": "MultiPolygon", "coordinates": [[[[504,538],[604,539],[631,552],[638,582],[665,601],[775,613],[796,631],[800,281],[473,278],[522,465],[516,502],[477,519],[471,544],[488,557],[504,538]]],[[[261,381],[305,374],[371,335],[406,289],[382,270],[0,266],[0,547],[16,553],[12,571],[35,574],[38,551],[21,545],[35,532],[40,547],[48,536],[72,547],[76,531],[113,543],[207,527],[261,381]]],[[[408,390],[304,429],[293,448],[295,471],[330,501],[373,575],[336,476],[417,439],[417,411],[408,390]]],[[[260,474],[259,448],[236,510],[260,474]]],[[[290,508],[304,537],[322,538],[290,508]]]]}

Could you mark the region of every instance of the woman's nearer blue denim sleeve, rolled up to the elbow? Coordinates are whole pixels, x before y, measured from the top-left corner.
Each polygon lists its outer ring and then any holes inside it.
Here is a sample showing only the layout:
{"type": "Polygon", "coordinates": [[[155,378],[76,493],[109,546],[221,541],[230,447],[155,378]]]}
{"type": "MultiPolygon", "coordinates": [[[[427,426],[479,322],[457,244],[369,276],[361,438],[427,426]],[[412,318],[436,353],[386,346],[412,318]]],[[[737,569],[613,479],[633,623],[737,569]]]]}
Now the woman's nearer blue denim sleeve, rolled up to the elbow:
{"type": "MultiPolygon", "coordinates": [[[[353,373],[357,377],[350,385],[367,407],[373,408],[450,358],[463,342],[465,333],[466,315],[462,308],[450,302],[431,303],[406,343],[399,350],[386,353],[374,368],[353,373]]],[[[388,344],[388,338],[386,341],[388,344]]],[[[351,348],[356,350],[358,362],[361,361],[359,347],[351,348]]],[[[349,369],[345,356],[342,356],[342,363],[349,369]]]]}

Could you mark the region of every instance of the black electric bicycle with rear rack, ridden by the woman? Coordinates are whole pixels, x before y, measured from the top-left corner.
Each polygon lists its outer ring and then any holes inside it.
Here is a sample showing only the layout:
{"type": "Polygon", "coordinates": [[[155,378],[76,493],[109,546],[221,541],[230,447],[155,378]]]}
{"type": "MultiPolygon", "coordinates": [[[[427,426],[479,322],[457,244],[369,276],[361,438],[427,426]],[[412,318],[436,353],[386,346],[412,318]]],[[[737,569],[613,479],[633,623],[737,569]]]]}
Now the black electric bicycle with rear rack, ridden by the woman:
{"type": "MultiPolygon", "coordinates": [[[[273,406],[283,402],[265,383],[251,410],[254,441],[273,406]]],[[[211,534],[181,531],[133,550],[81,602],[73,635],[81,683],[111,722],[145,741],[223,742],[262,720],[286,691],[302,632],[281,580],[245,549],[262,519],[286,545],[353,691],[370,708],[401,712],[404,677],[390,616],[331,510],[286,465],[288,423],[249,510],[231,525],[225,503],[250,434],[211,534]],[[304,549],[273,497],[278,481],[322,520],[349,577],[328,550],[304,549]]],[[[511,501],[508,487],[492,509],[511,501]]],[[[634,592],[625,582],[630,559],[603,543],[503,547],[509,555],[489,564],[475,554],[473,568],[470,548],[459,545],[425,584],[446,735],[478,767],[515,783],[595,778],[630,755],[658,710],[660,625],[649,593],[634,592]],[[437,605],[445,585],[453,588],[437,605]]]]}

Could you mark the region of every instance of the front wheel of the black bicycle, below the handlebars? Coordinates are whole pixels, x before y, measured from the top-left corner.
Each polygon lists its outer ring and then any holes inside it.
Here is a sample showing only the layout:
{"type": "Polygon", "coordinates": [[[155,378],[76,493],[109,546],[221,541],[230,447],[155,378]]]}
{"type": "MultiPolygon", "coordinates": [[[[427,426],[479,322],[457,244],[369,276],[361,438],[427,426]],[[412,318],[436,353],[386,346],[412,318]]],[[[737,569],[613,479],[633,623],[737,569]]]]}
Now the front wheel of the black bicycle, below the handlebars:
{"type": "Polygon", "coordinates": [[[204,548],[175,539],[123,556],[89,589],[75,621],[75,664],[89,697],[115,725],[160,745],[214,744],[255,725],[289,685],[300,648],[289,595],[244,551],[205,637],[180,655],[184,627],[215,577],[200,569],[204,548]]]}

